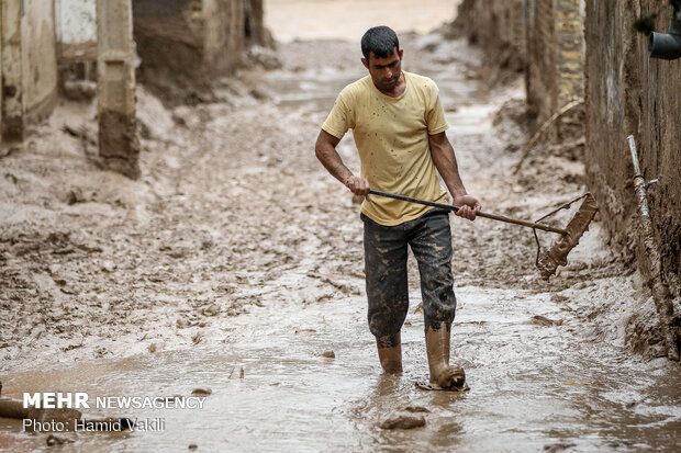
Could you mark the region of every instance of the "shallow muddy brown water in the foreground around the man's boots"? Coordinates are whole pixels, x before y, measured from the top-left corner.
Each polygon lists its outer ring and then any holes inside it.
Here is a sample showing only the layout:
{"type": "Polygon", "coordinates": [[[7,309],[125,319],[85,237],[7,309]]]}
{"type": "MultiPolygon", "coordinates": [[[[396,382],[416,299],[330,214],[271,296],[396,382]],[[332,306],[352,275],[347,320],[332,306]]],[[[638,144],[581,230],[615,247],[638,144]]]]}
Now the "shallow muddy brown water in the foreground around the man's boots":
{"type": "MultiPolygon", "coordinates": [[[[417,292],[411,295],[416,305],[417,292]]],[[[80,434],[60,451],[178,451],[192,443],[200,451],[311,452],[679,448],[678,374],[607,344],[584,343],[565,326],[533,324],[536,315],[568,316],[546,295],[464,287],[458,301],[454,360],[470,385],[462,394],[415,386],[427,377],[420,313],[410,313],[403,330],[405,372],[382,375],[360,296],[306,306],[272,299],[236,318],[216,350],[79,363],[10,375],[4,384],[91,397],[213,392],[203,409],[119,411],[163,418],[161,432],[80,434]],[[335,359],[323,356],[326,351],[335,359]],[[424,428],[377,427],[406,406],[429,410],[424,428]]],[[[33,451],[44,442],[44,435],[21,433],[19,421],[0,427],[11,451],[33,451]]]]}

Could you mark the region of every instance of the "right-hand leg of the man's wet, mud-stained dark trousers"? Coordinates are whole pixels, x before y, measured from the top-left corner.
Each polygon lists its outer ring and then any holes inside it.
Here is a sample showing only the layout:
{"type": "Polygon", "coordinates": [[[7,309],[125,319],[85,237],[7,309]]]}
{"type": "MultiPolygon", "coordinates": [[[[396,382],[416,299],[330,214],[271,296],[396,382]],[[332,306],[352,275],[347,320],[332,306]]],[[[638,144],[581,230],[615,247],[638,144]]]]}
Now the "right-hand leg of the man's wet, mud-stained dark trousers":
{"type": "Polygon", "coordinates": [[[410,245],[421,274],[425,330],[439,330],[444,325],[449,331],[456,312],[449,216],[434,213],[420,220],[410,231],[410,245]]]}

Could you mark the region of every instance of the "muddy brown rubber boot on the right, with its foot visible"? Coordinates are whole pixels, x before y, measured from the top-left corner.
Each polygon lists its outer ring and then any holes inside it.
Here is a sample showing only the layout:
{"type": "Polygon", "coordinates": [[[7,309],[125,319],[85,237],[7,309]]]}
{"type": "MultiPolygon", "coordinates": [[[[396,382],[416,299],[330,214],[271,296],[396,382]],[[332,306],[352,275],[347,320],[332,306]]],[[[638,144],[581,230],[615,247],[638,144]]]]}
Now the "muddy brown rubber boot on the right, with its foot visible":
{"type": "Polygon", "coordinates": [[[460,366],[449,365],[449,330],[443,324],[439,330],[426,330],[426,351],[431,384],[442,388],[461,388],[466,384],[466,373],[460,366]]]}

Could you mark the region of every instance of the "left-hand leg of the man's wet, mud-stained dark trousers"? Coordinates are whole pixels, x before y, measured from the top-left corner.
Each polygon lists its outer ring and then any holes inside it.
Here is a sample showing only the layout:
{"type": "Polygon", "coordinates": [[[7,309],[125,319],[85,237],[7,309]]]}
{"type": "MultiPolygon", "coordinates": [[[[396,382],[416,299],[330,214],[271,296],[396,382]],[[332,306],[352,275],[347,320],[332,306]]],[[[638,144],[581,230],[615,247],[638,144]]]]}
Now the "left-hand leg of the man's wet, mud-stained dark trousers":
{"type": "Polygon", "coordinates": [[[400,329],[409,310],[406,235],[362,215],[365,274],[369,303],[369,330],[379,349],[400,344],[400,329]]]}

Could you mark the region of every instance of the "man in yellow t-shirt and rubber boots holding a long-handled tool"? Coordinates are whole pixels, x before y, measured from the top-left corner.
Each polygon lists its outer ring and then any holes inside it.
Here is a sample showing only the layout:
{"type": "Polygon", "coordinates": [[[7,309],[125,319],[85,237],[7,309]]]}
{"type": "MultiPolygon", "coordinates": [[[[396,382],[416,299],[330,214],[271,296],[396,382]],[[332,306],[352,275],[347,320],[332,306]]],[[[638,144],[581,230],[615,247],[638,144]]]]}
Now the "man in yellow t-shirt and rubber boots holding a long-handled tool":
{"type": "Polygon", "coordinates": [[[402,371],[400,330],[409,309],[408,246],[418,262],[425,337],[435,388],[460,387],[465,373],[449,365],[449,332],[456,309],[448,213],[429,206],[369,194],[369,189],[445,202],[475,220],[480,203],[459,177],[449,127],[435,83],[401,70],[403,50],[387,26],[361,38],[361,63],[369,76],[345,87],[322,126],[316,157],[354,194],[365,195],[365,273],[369,329],[376,336],[383,371],[402,371]],[[359,177],[343,163],[336,145],[353,129],[361,161],[359,177]]]}

